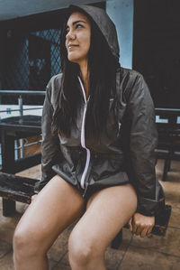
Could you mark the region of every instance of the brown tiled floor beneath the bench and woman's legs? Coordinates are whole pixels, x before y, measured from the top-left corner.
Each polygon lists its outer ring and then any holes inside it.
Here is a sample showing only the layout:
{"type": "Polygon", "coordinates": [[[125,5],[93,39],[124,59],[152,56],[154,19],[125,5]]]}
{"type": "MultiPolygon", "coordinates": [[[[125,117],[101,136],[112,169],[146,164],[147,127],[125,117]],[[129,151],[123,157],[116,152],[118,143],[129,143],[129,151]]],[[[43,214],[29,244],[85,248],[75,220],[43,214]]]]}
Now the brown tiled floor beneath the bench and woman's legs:
{"type": "MultiPolygon", "coordinates": [[[[157,178],[159,180],[162,177],[162,168],[163,161],[158,161],[157,178]]],[[[32,178],[37,178],[37,175],[40,177],[40,166],[21,174],[32,178]]],[[[180,269],[180,162],[172,163],[167,182],[161,183],[166,193],[166,203],[173,207],[166,237],[132,237],[130,231],[124,228],[123,243],[119,250],[108,247],[105,252],[108,270],[180,269]]],[[[14,216],[4,218],[2,215],[2,200],[0,200],[0,270],[14,269],[12,238],[14,228],[26,208],[27,205],[17,203],[17,212],[14,216]]],[[[48,254],[49,269],[70,269],[67,260],[67,238],[72,228],[73,226],[67,228],[50,248],[48,254]]]]}

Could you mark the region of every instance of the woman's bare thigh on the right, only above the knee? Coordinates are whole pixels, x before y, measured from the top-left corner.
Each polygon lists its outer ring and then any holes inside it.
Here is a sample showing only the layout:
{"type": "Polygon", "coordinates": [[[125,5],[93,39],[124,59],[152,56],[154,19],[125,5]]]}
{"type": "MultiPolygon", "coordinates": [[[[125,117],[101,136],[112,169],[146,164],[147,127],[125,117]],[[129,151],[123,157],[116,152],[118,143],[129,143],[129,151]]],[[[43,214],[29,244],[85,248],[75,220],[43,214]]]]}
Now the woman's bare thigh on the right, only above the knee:
{"type": "Polygon", "coordinates": [[[137,195],[130,184],[97,191],[88,200],[85,214],[71,237],[79,237],[85,245],[103,252],[136,209],[137,195]]]}

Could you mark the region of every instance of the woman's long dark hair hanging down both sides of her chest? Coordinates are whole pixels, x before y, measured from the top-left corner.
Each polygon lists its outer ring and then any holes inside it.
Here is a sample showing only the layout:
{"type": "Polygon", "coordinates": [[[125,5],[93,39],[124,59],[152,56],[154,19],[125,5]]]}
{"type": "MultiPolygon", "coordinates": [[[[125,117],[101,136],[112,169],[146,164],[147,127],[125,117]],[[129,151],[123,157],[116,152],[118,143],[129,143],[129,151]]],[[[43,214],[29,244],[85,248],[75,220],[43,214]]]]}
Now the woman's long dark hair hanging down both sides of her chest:
{"type": "MultiPolygon", "coordinates": [[[[109,100],[116,92],[116,70],[120,65],[112,56],[103,34],[93,20],[86,16],[91,23],[91,44],[88,52],[90,99],[85,118],[85,135],[100,139],[102,133],[106,132],[109,100]]],[[[71,129],[77,128],[76,117],[82,106],[83,96],[77,78],[80,72],[79,65],[67,59],[66,25],[67,22],[60,37],[62,80],[58,94],[59,107],[54,115],[53,126],[59,134],[69,136],[71,129]]]]}

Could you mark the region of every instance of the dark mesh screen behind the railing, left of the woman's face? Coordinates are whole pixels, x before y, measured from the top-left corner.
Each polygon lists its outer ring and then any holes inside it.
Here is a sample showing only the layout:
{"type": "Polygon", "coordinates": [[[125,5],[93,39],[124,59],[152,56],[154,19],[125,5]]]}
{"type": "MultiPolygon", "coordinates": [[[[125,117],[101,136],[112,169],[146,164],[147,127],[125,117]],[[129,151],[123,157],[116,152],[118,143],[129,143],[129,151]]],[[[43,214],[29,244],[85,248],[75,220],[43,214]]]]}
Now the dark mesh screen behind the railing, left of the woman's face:
{"type": "MultiPolygon", "coordinates": [[[[7,39],[2,89],[45,90],[49,79],[60,71],[59,30],[18,34],[7,39]]],[[[42,104],[43,97],[23,97],[24,104],[42,104]]],[[[5,104],[17,97],[4,96],[5,104]]]]}

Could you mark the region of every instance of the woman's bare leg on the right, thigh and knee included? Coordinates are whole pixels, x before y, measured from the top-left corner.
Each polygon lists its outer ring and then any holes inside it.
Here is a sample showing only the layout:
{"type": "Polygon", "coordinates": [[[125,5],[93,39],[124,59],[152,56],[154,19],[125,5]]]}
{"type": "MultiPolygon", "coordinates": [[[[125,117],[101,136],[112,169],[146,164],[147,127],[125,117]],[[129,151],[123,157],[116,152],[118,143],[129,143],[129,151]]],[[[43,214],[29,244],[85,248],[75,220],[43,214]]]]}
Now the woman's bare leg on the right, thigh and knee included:
{"type": "Polygon", "coordinates": [[[73,270],[104,270],[105,248],[137,209],[130,184],[97,191],[88,200],[83,217],[69,237],[69,262],[73,270]]]}

